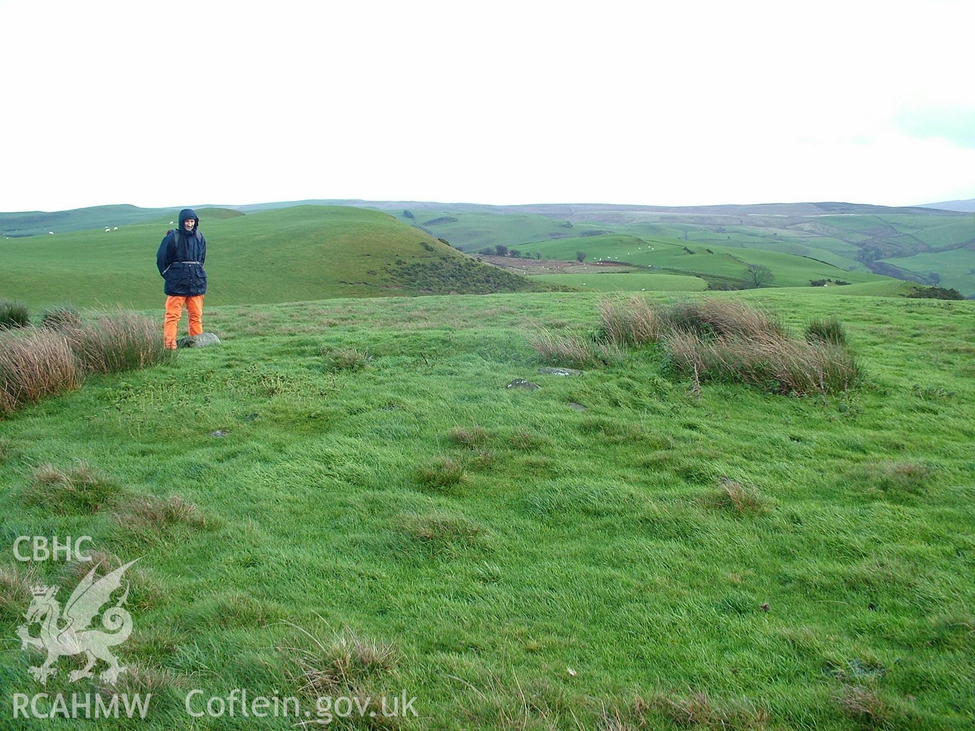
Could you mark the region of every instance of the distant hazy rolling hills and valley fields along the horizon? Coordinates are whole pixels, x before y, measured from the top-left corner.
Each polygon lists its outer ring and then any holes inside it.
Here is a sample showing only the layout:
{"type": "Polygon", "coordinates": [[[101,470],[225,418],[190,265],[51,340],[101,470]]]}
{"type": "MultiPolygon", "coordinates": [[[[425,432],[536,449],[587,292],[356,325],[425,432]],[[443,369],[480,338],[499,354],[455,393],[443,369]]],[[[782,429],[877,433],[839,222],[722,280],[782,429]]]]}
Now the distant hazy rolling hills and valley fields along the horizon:
{"type": "MultiPolygon", "coordinates": [[[[972,202],[950,203],[962,206],[972,202]]],[[[214,211],[205,215],[213,219],[217,212],[220,215],[247,212],[250,216],[309,205],[335,204],[388,212],[402,223],[418,229],[422,235],[446,239],[451,245],[468,252],[502,245],[533,253],[540,250],[538,244],[545,242],[611,234],[680,240],[712,250],[716,247],[739,249],[725,253],[750,262],[761,259],[760,254],[750,253],[753,250],[791,254],[842,269],[850,274],[845,278],[847,281],[856,281],[855,272],[872,272],[920,284],[940,284],[969,296],[975,295],[975,213],[931,208],[940,204],[902,208],[841,202],[698,207],[487,206],[423,201],[315,200],[201,208],[214,211]]],[[[49,230],[60,235],[95,226],[168,221],[175,215],[176,209],[137,209],[134,206],[54,213],[0,213],[0,231],[5,236],[47,235],[49,230]]],[[[573,258],[574,250],[566,256],[573,258]]],[[[684,265],[691,263],[691,260],[683,262],[684,265]]],[[[708,264],[710,268],[711,264],[708,264]]],[[[699,269],[684,271],[713,274],[699,269]]],[[[793,281],[795,279],[792,277],[793,281]]],[[[789,280],[780,280],[776,284],[781,286],[786,281],[789,280]]]]}

